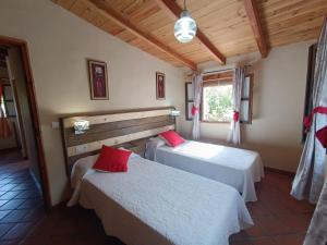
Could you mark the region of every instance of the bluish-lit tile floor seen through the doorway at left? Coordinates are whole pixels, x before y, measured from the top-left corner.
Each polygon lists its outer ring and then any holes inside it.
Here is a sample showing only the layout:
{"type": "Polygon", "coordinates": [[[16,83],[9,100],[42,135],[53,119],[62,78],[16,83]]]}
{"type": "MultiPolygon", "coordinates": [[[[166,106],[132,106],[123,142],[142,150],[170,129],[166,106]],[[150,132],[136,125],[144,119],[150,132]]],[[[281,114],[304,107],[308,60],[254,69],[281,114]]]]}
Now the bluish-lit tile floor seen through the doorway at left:
{"type": "Polygon", "coordinates": [[[45,217],[43,199],[26,161],[4,162],[0,161],[0,244],[22,244],[45,217]]]}

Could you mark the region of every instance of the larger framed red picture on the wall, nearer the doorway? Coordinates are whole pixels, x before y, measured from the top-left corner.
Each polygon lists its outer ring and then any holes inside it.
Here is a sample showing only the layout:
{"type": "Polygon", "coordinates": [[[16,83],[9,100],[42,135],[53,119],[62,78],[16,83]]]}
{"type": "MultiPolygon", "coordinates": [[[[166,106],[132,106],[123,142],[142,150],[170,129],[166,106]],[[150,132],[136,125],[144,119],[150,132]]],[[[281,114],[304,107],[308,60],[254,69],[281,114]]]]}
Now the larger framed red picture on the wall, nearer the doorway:
{"type": "Polygon", "coordinates": [[[109,99],[107,64],[102,61],[87,60],[90,99],[109,99]]]}

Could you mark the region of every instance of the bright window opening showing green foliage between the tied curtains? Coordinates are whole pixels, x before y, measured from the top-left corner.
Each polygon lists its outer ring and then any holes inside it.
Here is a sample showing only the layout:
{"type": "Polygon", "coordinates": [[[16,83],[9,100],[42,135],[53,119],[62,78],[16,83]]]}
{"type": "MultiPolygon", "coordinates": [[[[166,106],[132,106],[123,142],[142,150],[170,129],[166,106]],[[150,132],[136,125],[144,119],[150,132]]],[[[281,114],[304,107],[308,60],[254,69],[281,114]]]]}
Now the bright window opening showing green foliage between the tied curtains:
{"type": "Polygon", "coordinates": [[[204,121],[230,122],[232,114],[232,84],[203,88],[204,121]]]}

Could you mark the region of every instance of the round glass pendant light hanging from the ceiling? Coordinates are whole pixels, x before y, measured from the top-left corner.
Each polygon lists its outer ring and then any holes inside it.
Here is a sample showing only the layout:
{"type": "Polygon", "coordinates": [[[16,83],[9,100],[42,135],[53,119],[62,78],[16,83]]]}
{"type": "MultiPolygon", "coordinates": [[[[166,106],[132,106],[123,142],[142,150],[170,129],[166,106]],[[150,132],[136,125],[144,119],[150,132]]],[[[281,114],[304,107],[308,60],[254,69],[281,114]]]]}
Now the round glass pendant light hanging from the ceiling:
{"type": "Polygon", "coordinates": [[[190,12],[186,10],[186,2],[184,0],[184,10],[181,13],[180,19],[174,24],[174,37],[180,42],[189,42],[196,35],[196,23],[191,17],[190,12]]]}

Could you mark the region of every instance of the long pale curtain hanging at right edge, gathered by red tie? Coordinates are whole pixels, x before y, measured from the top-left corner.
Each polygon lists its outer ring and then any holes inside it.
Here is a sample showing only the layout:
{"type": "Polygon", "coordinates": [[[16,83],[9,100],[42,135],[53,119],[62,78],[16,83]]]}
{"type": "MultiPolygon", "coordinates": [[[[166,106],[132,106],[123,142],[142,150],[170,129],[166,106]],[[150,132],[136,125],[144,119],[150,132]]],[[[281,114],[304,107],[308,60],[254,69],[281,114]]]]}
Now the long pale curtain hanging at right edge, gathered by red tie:
{"type": "MultiPolygon", "coordinates": [[[[326,21],[318,40],[313,84],[313,108],[327,107],[327,25],[326,21]]],[[[314,110],[315,111],[315,110],[314,110]]],[[[315,137],[327,125],[327,114],[313,113],[300,164],[293,181],[291,195],[316,204],[324,185],[326,149],[315,137]]]]}

